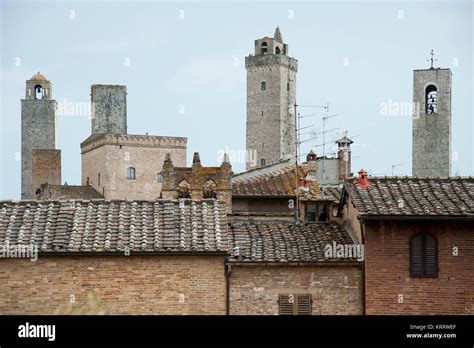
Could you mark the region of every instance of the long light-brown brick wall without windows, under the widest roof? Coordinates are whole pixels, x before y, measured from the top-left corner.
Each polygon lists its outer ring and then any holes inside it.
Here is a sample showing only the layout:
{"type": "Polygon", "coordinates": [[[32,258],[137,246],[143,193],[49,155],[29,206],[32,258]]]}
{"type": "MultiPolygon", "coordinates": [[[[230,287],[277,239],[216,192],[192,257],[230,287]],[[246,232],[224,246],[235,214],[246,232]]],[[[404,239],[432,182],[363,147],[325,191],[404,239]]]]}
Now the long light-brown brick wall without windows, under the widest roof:
{"type": "Polygon", "coordinates": [[[44,256],[0,260],[0,314],[225,314],[223,257],[44,256]],[[71,306],[71,298],[75,299],[71,306]],[[180,301],[181,300],[181,301],[180,301]],[[86,308],[86,309],[84,309],[86,308]]]}

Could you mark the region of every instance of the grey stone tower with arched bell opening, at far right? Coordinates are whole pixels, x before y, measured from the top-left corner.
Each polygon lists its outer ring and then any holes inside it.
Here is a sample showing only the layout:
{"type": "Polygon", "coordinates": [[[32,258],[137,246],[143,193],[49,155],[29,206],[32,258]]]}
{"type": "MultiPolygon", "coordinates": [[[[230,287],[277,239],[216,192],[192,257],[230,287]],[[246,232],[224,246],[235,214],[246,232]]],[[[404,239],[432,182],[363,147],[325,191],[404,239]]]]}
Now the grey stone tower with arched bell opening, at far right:
{"type": "Polygon", "coordinates": [[[414,176],[451,175],[451,77],[450,69],[414,71],[414,176]]]}

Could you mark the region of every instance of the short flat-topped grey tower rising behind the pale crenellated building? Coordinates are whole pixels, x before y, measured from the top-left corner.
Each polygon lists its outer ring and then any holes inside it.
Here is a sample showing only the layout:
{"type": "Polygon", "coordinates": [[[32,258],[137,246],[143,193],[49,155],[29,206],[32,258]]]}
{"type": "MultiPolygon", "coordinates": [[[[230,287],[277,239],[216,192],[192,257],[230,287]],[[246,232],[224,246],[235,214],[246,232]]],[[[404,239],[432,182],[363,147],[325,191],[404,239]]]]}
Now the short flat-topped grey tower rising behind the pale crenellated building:
{"type": "Polygon", "coordinates": [[[127,134],[127,88],[92,85],[92,134],[127,134]]]}

